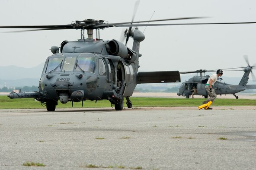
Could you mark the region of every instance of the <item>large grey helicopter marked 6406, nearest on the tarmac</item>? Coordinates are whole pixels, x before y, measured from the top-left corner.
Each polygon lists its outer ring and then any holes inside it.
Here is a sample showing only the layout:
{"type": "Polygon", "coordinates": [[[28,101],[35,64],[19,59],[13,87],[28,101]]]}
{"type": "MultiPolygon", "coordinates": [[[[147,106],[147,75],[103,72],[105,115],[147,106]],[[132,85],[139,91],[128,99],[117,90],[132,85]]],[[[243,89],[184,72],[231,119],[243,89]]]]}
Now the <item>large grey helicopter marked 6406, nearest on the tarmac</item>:
{"type": "MultiPolygon", "coordinates": [[[[80,29],[78,41],[63,41],[61,46],[52,46],[52,55],[47,57],[38,85],[38,91],[12,91],[8,97],[35,98],[48,111],[55,111],[58,101],[82,102],[108,100],[115,110],[123,110],[124,98],[128,108],[132,107],[129,97],[132,96],[137,84],[180,82],[179,71],[138,72],[140,43],[145,35],[138,30],[140,26],[166,25],[205,25],[205,24],[254,24],[256,22],[225,22],[225,23],[166,23],[149,24],[149,22],[201,19],[205,17],[183,17],[174,19],[158,19],[149,21],[108,23],[104,20],[76,20],[68,25],[27,25],[0,26],[0,28],[26,28],[25,31],[80,29]],[[143,24],[143,22],[148,22],[143,24]],[[142,23],[142,24],[141,24],[142,23]],[[127,27],[124,36],[125,44],[99,37],[99,29],[111,27],[127,27]],[[132,29],[135,27],[135,29],[132,29]],[[87,31],[85,38],[84,30],[87,31]],[[96,38],[93,38],[93,31],[96,38]],[[129,38],[133,38],[132,49],[128,48],[129,38]]],[[[22,32],[22,31],[14,31],[22,32]]]]}

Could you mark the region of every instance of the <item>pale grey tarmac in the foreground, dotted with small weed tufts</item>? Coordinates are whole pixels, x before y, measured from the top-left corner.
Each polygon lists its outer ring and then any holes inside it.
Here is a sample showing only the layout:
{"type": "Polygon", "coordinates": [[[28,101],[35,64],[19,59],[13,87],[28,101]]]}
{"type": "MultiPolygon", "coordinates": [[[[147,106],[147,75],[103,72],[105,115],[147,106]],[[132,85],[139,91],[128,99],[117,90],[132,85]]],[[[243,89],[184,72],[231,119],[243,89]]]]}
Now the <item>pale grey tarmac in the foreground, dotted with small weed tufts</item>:
{"type": "Polygon", "coordinates": [[[255,160],[256,107],[0,110],[1,170],[255,170],[255,160]]]}

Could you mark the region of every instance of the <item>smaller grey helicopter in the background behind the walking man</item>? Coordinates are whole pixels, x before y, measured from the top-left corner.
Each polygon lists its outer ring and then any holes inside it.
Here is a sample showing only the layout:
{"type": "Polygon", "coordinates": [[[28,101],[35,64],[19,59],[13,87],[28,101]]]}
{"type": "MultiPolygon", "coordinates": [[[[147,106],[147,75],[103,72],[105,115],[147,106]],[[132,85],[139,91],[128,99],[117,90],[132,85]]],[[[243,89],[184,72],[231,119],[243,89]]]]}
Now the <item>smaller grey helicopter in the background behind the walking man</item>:
{"type": "MultiPolygon", "coordinates": [[[[255,76],[253,75],[252,69],[254,66],[250,66],[248,62],[247,56],[244,56],[246,63],[248,66],[246,67],[237,67],[237,68],[230,68],[230,69],[240,69],[243,68],[243,76],[240,80],[238,85],[230,85],[225,82],[221,82],[222,78],[218,77],[217,82],[214,83],[214,90],[216,94],[233,94],[236,99],[238,99],[238,96],[236,93],[248,89],[256,89],[256,85],[247,85],[249,75],[253,76],[253,81],[255,81],[255,76]]],[[[225,70],[225,69],[222,69],[225,70]]],[[[227,70],[227,69],[226,69],[227,70]]],[[[205,69],[199,69],[192,72],[180,72],[180,74],[188,74],[188,73],[200,73],[198,76],[193,76],[188,81],[182,82],[182,84],[179,87],[179,90],[177,92],[178,96],[185,96],[186,98],[189,98],[190,95],[202,95],[204,98],[208,98],[208,93],[205,90],[205,84],[207,83],[209,79],[209,75],[202,75],[202,73],[205,74],[205,72],[216,72],[217,70],[205,70],[205,69]],[[193,94],[192,94],[193,93],[193,94]]],[[[241,70],[227,70],[227,71],[241,71],[241,70]]]]}

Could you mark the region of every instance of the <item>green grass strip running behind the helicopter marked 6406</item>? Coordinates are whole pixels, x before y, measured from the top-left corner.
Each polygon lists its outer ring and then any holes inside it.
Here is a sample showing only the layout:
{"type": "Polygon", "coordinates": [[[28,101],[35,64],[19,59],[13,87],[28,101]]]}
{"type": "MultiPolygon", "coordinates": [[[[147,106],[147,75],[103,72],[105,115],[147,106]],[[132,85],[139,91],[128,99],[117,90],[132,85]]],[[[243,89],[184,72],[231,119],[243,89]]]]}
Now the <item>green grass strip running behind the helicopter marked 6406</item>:
{"type": "MultiPolygon", "coordinates": [[[[133,107],[197,107],[205,101],[204,98],[139,98],[131,97],[133,107]]],[[[124,107],[126,107],[124,100],[124,107]]],[[[256,106],[256,100],[251,99],[219,99],[214,101],[214,106],[256,106]]],[[[74,102],[73,108],[96,108],[111,107],[108,100],[74,102]]],[[[10,99],[7,96],[0,96],[0,109],[36,109],[45,108],[39,101],[33,98],[10,99]]],[[[61,104],[58,102],[56,108],[72,108],[72,102],[61,104]]]]}

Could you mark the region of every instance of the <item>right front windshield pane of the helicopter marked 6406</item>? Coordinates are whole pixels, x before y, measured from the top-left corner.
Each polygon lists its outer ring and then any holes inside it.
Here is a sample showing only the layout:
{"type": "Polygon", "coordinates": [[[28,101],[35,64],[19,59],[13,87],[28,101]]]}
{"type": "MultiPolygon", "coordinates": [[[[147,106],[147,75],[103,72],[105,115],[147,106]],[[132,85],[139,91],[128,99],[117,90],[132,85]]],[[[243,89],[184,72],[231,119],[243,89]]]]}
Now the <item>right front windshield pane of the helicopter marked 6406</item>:
{"type": "Polygon", "coordinates": [[[76,71],[95,72],[95,57],[77,57],[76,71]]]}

